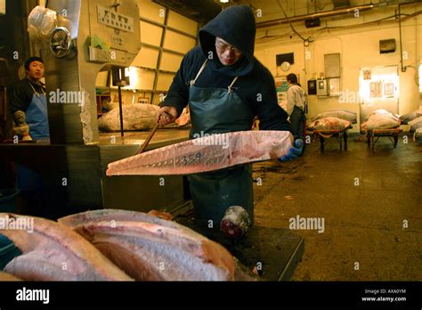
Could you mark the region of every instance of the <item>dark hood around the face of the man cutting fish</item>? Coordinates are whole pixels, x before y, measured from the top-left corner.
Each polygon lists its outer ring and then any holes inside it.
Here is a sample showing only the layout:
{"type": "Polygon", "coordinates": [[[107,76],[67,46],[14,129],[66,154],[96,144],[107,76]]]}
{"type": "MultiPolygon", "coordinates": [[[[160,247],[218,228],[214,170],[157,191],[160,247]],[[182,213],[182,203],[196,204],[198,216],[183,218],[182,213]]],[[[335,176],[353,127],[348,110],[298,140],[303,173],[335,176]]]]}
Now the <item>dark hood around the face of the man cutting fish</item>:
{"type": "Polygon", "coordinates": [[[214,57],[211,63],[216,70],[230,76],[244,76],[254,68],[255,35],[255,17],[250,7],[233,5],[199,30],[199,45],[206,57],[212,52],[214,57]],[[223,66],[215,51],[215,37],[221,37],[239,48],[243,53],[242,59],[233,66],[223,66]]]}

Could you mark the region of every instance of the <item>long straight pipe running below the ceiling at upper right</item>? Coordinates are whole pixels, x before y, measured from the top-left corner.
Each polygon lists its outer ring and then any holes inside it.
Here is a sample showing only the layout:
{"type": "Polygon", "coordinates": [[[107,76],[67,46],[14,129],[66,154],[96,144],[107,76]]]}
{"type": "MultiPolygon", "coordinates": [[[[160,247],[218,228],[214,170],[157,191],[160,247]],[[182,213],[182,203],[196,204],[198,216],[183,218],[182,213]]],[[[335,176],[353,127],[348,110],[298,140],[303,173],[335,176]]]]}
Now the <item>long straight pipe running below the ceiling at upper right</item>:
{"type": "Polygon", "coordinates": [[[353,6],[353,7],[349,7],[345,9],[332,10],[329,12],[317,12],[317,13],[312,13],[312,14],[298,15],[291,18],[285,18],[285,19],[279,19],[279,20],[267,20],[267,21],[257,22],[256,28],[266,28],[266,27],[271,27],[271,26],[288,24],[290,22],[343,15],[347,13],[354,13],[356,12],[356,10],[358,10],[359,12],[368,11],[372,9],[374,6],[375,6],[374,4],[357,5],[357,6],[353,6]]]}

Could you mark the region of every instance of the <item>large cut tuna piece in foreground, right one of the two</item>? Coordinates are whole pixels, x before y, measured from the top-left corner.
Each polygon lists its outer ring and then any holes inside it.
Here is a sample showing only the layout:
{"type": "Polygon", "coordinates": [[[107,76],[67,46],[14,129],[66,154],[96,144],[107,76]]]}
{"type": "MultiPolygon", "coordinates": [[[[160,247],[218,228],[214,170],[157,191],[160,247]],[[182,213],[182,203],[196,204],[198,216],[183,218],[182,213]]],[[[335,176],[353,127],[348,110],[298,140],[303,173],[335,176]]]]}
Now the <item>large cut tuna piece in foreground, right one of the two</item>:
{"type": "Polygon", "coordinates": [[[65,216],[59,223],[80,233],[135,280],[234,280],[227,249],[181,224],[113,209],[65,216]]]}

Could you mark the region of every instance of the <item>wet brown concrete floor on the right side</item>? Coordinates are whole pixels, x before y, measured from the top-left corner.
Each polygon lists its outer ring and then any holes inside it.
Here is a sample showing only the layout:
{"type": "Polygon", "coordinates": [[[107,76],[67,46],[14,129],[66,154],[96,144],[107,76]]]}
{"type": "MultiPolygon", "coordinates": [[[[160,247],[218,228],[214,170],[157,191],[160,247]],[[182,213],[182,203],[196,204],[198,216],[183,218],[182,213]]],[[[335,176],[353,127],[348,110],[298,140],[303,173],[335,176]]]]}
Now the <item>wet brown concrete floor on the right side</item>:
{"type": "Polygon", "coordinates": [[[324,154],[315,141],[296,161],[254,165],[256,224],[324,218],[324,232],[295,231],[304,256],[293,281],[421,281],[422,144],[348,141],[348,151],[330,138],[324,154]]]}

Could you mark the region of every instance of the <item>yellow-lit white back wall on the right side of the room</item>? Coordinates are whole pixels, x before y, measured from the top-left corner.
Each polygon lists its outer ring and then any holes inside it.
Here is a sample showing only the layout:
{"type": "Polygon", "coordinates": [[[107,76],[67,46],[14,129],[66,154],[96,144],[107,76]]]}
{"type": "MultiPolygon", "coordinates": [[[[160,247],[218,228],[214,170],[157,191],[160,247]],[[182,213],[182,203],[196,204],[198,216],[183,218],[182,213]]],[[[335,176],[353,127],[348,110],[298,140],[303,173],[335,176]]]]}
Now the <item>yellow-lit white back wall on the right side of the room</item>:
{"type": "MultiPolygon", "coordinates": [[[[422,4],[402,6],[402,12],[413,13],[422,10],[422,4]]],[[[269,29],[258,29],[256,37],[282,36],[277,39],[258,39],[256,41],[256,58],[262,61],[270,69],[275,77],[278,74],[276,67],[276,55],[279,53],[295,53],[295,63],[288,72],[279,74],[287,75],[296,73],[300,75],[300,83],[307,87],[307,80],[312,77],[319,78],[320,72],[324,72],[324,54],[340,53],[341,59],[341,81],[340,91],[359,90],[359,74],[363,67],[376,67],[397,65],[400,77],[400,99],[399,114],[405,114],[412,110],[418,110],[422,104],[417,84],[416,69],[422,57],[422,15],[402,21],[402,49],[408,53],[408,60],[403,61],[404,66],[409,67],[406,72],[402,72],[400,63],[400,35],[399,23],[389,22],[386,24],[370,24],[368,26],[356,28],[353,25],[369,20],[377,20],[394,14],[394,8],[382,11],[373,10],[361,14],[359,20],[342,17],[335,20],[323,21],[321,28],[325,26],[346,26],[350,28],[342,29],[305,29],[304,22],[294,23],[296,30],[303,37],[312,37],[312,43],[304,47],[303,41],[294,33],[289,34],[291,29],[288,25],[272,27],[269,29]],[[323,27],[322,27],[323,26],[323,27]],[[291,38],[289,36],[292,36],[291,38]],[[396,51],[394,53],[379,53],[379,40],[395,38],[396,51]],[[310,52],[311,58],[305,60],[304,53],[310,52]],[[415,69],[416,68],[416,69],[415,69]]],[[[259,19],[256,21],[259,22],[259,19]]],[[[315,116],[321,111],[329,109],[353,110],[359,116],[359,103],[339,103],[339,97],[329,97],[326,99],[311,95],[309,98],[308,117],[315,116]]],[[[358,124],[359,125],[359,124],[358,124]]],[[[353,131],[358,131],[358,126],[354,126],[353,131]]]]}

